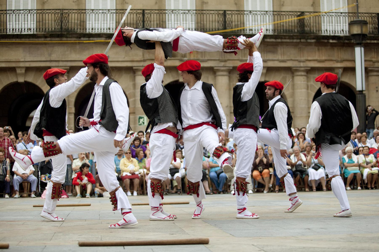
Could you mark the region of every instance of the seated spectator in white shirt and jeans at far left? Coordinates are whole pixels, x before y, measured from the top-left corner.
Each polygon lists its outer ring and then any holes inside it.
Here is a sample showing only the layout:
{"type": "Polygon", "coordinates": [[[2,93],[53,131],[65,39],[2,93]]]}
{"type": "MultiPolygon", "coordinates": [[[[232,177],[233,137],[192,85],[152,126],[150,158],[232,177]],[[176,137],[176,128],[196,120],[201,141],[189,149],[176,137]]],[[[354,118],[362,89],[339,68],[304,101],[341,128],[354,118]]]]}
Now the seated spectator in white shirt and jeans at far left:
{"type": "MultiPolygon", "coordinates": [[[[28,133],[27,133],[28,134],[28,133]]],[[[28,155],[28,150],[20,150],[20,154],[28,155]]],[[[23,181],[28,181],[31,184],[32,187],[32,194],[30,195],[32,198],[35,198],[36,195],[36,189],[37,189],[37,183],[38,179],[33,175],[33,172],[35,171],[33,165],[30,165],[26,170],[24,170],[17,162],[14,163],[12,171],[15,174],[15,177],[13,179],[13,187],[15,190],[16,195],[14,195],[13,198],[19,198],[19,187],[20,184],[23,181]]]]}

